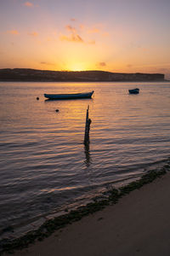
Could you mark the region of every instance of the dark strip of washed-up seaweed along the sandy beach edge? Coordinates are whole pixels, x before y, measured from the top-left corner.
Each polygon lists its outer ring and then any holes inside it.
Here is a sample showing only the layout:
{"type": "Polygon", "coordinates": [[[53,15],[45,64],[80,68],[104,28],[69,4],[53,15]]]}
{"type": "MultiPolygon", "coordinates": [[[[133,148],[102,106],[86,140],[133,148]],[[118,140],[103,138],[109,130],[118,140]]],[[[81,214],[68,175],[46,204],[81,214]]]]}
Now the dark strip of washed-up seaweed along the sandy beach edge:
{"type": "Polygon", "coordinates": [[[25,236],[16,238],[14,240],[3,239],[0,245],[0,255],[3,253],[14,253],[16,249],[28,247],[29,244],[35,241],[42,241],[45,237],[50,236],[55,230],[59,230],[67,224],[71,224],[90,213],[97,212],[104,209],[106,206],[116,204],[123,195],[129,194],[134,189],[140,189],[144,184],[151,183],[157,177],[161,177],[170,171],[170,164],[163,166],[161,170],[150,171],[144,174],[138,181],[127,184],[120,189],[111,189],[107,192],[105,199],[94,199],[94,202],[88,203],[85,207],[79,207],[75,211],[66,213],[65,215],[47,220],[40,226],[39,229],[28,232],[25,236]]]}

